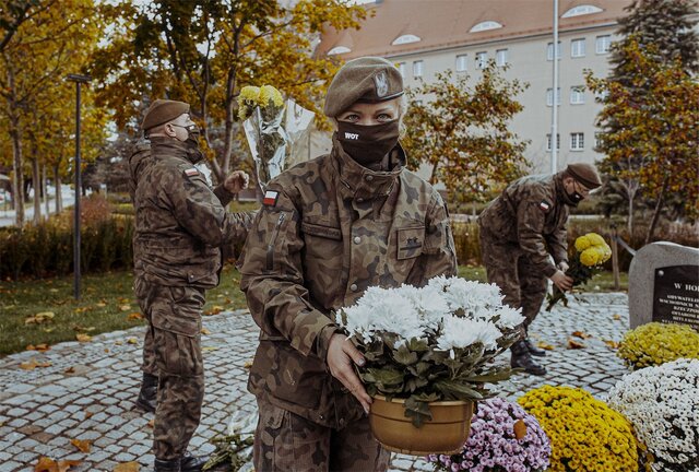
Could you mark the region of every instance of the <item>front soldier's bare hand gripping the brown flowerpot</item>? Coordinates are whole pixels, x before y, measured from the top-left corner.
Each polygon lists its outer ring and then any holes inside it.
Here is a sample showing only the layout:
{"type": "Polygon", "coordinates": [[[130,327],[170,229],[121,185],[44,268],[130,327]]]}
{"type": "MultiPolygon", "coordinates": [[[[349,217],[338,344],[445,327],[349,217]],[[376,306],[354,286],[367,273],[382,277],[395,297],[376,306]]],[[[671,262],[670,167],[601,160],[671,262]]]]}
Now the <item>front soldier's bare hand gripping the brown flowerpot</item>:
{"type": "Polygon", "coordinates": [[[335,333],[330,339],[330,345],[328,346],[328,367],[330,374],[342,382],[347,390],[362,403],[364,411],[369,413],[369,406],[371,405],[371,397],[367,393],[359,380],[359,377],[354,371],[352,363],[362,366],[364,365],[364,356],[352,344],[347,337],[344,334],[335,333]]]}

